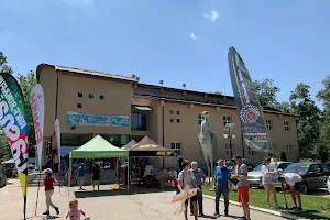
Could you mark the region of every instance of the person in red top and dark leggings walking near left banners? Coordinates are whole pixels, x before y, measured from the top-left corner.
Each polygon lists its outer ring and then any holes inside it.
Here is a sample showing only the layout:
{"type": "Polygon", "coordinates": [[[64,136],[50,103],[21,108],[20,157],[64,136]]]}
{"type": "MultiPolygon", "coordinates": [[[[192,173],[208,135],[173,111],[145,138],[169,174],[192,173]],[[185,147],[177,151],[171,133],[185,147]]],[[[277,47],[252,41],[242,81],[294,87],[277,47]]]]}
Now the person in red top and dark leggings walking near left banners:
{"type": "Polygon", "coordinates": [[[59,215],[59,209],[52,202],[52,196],[54,194],[54,184],[58,185],[56,179],[53,177],[53,170],[47,168],[44,170],[45,176],[43,178],[43,186],[45,186],[45,194],[46,194],[46,206],[47,210],[43,215],[50,216],[50,206],[55,209],[56,215],[59,215]]]}

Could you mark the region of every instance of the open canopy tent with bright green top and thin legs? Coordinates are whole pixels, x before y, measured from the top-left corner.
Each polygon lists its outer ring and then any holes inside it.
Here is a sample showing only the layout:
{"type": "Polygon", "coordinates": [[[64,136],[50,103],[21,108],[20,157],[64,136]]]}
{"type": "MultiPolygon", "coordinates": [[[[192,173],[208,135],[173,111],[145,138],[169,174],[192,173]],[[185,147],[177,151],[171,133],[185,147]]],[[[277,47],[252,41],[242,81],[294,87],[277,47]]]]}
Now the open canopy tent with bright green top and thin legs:
{"type": "MultiPolygon", "coordinates": [[[[69,167],[72,167],[73,158],[122,158],[122,157],[129,158],[129,151],[119,148],[112,145],[111,143],[109,143],[102,136],[97,135],[90,141],[88,141],[86,144],[80,146],[79,148],[72,151],[69,157],[70,157],[69,167]]],[[[129,167],[130,166],[128,164],[128,169],[129,167]]],[[[128,170],[128,174],[130,172],[128,170]]],[[[69,174],[69,176],[72,173],[69,174]]],[[[128,178],[129,177],[130,175],[128,175],[128,178]]],[[[128,180],[128,183],[130,182],[128,180]]],[[[70,182],[68,182],[68,186],[70,182]]],[[[128,190],[129,190],[129,185],[128,185],[128,190]]]]}

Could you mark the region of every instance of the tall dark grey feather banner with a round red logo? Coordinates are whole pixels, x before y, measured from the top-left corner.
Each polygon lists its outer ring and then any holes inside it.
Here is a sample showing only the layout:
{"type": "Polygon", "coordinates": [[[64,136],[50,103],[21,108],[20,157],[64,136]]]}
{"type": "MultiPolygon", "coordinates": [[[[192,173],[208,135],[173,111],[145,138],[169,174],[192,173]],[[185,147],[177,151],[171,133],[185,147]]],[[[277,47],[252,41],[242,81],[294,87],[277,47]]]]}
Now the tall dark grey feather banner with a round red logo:
{"type": "Polygon", "coordinates": [[[234,47],[229,48],[228,62],[244,141],[248,146],[255,151],[270,151],[271,140],[267,134],[262,107],[252,87],[249,70],[234,47]]]}

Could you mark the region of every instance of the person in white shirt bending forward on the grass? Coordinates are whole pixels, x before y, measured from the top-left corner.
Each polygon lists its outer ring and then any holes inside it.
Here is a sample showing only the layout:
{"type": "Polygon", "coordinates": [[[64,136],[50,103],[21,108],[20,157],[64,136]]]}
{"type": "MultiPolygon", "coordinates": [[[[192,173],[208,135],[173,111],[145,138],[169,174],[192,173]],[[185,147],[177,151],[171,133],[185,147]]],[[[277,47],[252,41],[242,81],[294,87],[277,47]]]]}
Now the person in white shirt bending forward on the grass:
{"type": "Polygon", "coordinates": [[[302,178],[298,174],[295,173],[286,173],[278,177],[278,182],[283,186],[284,194],[290,194],[295,207],[293,208],[296,211],[301,211],[301,196],[300,189],[302,185],[302,178]],[[296,198],[297,197],[297,198],[296,198]],[[297,200],[299,206],[297,206],[297,200]]]}

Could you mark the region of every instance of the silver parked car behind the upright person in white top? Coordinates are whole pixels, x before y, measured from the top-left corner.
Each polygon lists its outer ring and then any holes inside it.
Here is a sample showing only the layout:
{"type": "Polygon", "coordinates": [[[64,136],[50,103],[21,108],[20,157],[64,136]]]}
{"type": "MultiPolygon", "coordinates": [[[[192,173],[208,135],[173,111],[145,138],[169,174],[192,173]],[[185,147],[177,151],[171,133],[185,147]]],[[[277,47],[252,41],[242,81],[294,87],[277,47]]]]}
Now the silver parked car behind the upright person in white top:
{"type": "MultiPolygon", "coordinates": [[[[279,161],[279,162],[277,162],[277,167],[275,167],[275,163],[272,162],[271,163],[271,170],[275,170],[275,168],[284,170],[290,164],[293,164],[293,162],[282,162],[282,161],[279,161]]],[[[263,184],[262,184],[263,173],[261,170],[262,166],[263,166],[263,164],[260,164],[252,172],[248,173],[248,180],[249,180],[250,187],[263,187],[263,184]]],[[[278,175],[274,175],[273,176],[273,182],[277,183],[278,182],[277,179],[278,179],[278,175]]],[[[275,187],[276,187],[276,185],[275,185],[275,187]]]]}

